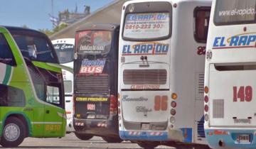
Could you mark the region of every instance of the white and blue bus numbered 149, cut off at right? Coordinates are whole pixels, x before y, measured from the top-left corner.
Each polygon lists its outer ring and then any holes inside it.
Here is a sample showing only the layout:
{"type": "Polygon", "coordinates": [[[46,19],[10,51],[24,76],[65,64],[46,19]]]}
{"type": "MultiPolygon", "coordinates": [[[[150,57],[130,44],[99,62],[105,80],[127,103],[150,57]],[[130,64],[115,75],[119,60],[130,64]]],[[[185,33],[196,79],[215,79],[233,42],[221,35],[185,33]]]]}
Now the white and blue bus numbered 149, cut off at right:
{"type": "Polygon", "coordinates": [[[256,1],[214,0],[205,77],[211,148],[256,148],[256,1]]]}

